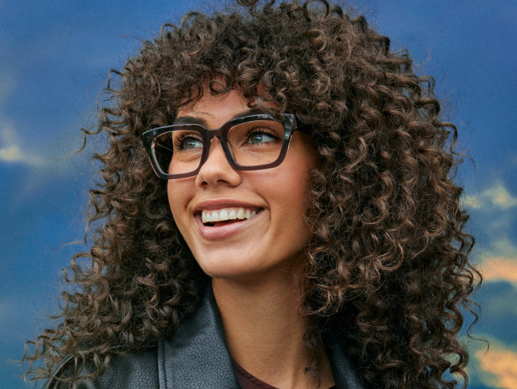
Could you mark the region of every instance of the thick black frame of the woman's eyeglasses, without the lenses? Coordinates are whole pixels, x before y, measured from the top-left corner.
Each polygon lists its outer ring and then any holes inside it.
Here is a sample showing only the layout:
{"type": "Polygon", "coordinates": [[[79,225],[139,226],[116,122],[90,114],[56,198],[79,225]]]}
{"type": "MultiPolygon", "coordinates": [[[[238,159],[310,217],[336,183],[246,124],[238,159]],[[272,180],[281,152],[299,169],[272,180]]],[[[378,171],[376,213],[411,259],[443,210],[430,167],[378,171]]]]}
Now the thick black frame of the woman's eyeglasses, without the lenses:
{"type": "Polygon", "coordinates": [[[145,147],[145,151],[147,151],[149,159],[151,161],[152,169],[154,170],[154,173],[156,173],[156,176],[159,176],[159,178],[162,178],[163,180],[172,180],[176,178],[187,178],[187,177],[193,177],[197,176],[199,174],[199,170],[203,166],[203,164],[208,159],[208,156],[210,154],[210,145],[212,138],[214,136],[219,139],[219,142],[221,143],[221,146],[223,147],[223,151],[225,153],[226,159],[230,166],[235,170],[241,170],[241,171],[250,171],[250,170],[262,170],[262,169],[271,169],[273,167],[277,167],[281,165],[285,158],[285,154],[287,154],[287,149],[289,148],[289,144],[291,141],[291,136],[294,131],[298,130],[301,132],[307,132],[305,127],[298,128],[296,127],[296,120],[294,118],[293,114],[283,114],[282,115],[283,122],[280,120],[274,118],[274,116],[270,114],[254,114],[249,116],[243,116],[241,118],[234,118],[231,120],[228,120],[226,123],[224,123],[221,127],[216,129],[207,129],[203,125],[200,124],[177,124],[177,125],[166,125],[164,127],[158,127],[149,129],[148,131],[144,132],[142,134],[142,143],[145,147]],[[281,123],[283,125],[283,141],[282,141],[282,148],[280,151],[280,154],[278,155],[278,158],[276,158],[275,161],[267,163],[265,165],[256,165],[256,166],[242,166],[239,165],[234,156],[232,155],[232,151],[230,151],[230,147],[228,147],[228,132],[230,132],[230,129],[234,127],[235,125],[240,125],[242,123],[250,123],[253,121],[258,120],[274,120],[278,123],[281,123]],[[182,173],[182,174],[167,174],[165,171],[160,169],[160,166],[156,160],[156,155],[154,154],[154,147],[156,145],[156,137],[160,136],[161,134],[164,134],[165,132],[175,130],[185,130],[185,131],[192,131],[195,130],[201,134],[202,140],[203,140],[203,151],[201,154],[201,160],[199,160],[199,166],[194,171],[190,171],[189,173],[182,173]]]}

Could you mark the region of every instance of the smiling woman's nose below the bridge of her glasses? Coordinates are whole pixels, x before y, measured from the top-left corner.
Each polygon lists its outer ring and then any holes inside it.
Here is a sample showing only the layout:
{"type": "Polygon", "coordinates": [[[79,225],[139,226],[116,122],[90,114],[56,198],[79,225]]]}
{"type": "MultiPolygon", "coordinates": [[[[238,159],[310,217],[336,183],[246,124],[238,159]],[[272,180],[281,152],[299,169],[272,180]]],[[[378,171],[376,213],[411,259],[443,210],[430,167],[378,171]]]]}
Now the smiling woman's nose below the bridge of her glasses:
{"type": "Polygon", "coordinates": [[[241,174],[230,166],[219,138],[214,136],[210,142],[208,158],[196,176],[196,187],[235,187],[241,182],[241,174]]]}

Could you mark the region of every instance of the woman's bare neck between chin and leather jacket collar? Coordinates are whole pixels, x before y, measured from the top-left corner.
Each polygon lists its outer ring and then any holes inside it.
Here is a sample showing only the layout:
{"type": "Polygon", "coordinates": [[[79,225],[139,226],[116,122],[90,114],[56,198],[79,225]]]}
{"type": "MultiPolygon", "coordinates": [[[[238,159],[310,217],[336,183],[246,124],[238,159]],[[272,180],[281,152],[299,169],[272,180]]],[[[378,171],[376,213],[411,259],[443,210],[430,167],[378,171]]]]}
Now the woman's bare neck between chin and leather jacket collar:
{"type": "MultiPolygon", "coordinates": [[[[277,388],[317,386],[304,372],[312,358],[303,341],[307,330],[299,308],[303,290],[292,271],[278,271],[267,280],[257,277],[253,282],[213,279],[212,286],[237,364],[277,388]]],[[[321,388],[332,386],[332,372],[328,383],[323,379],[321,388]]]]}

